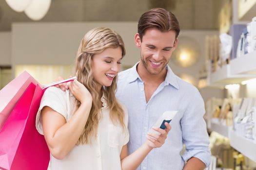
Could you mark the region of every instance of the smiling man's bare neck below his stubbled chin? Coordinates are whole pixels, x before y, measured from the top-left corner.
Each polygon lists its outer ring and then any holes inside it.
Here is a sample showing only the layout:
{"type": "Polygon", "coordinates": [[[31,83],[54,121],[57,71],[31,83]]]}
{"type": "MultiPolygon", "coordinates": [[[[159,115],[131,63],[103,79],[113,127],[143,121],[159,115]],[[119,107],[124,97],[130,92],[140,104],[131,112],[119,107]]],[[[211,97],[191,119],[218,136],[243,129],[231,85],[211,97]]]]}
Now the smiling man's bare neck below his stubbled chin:
{"type": "Polygon", "coordinates": [[[143,82],[155,82],[155,83],[159,83],[159,84],[165,80],[166,74],[167,74],[166,69],[163,69],[159,74],[151,74],[143,66],[141,61],[138,63],[137,72],[143,82]]]}

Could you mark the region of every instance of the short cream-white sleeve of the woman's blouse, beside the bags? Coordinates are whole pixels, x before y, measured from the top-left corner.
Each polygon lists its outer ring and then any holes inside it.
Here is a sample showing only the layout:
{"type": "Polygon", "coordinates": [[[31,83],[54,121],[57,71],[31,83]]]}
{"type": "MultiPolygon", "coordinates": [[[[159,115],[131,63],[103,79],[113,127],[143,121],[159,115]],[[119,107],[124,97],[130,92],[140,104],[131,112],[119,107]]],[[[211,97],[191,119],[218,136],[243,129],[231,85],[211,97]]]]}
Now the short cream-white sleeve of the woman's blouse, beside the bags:
{"type": "Polygon", "coordinates": [[[36,116],[36,128],[39,134],[43,135],[41,110],[44,106],[51,107],[53,110],[62,115],[67,121],[67,103],[64,96],[65,92],[61,91],[57,87],[49,87],[45,90],[36,116]]]}

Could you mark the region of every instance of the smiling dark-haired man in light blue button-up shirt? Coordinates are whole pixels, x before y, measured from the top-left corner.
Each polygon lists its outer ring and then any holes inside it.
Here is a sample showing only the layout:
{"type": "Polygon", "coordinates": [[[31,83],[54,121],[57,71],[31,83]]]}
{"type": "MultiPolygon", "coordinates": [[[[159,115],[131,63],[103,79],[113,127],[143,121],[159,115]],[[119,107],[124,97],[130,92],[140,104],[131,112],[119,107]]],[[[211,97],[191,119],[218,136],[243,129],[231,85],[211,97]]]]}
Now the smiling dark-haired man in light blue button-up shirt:
{"type": "Polygon", "coordinates": [[[116,96],[129,115],[129,154],[146,140],[146,133],[165,111],[178,111],[165,144],[151,152],[138,170],[203,170],[210,164],[204,102],[196,87],[167,65],[178,34],[178,21],[171,12],[154,8],[144,13],[135,35],[140,61],[118,74],[116,96]],[[183,144],[186,152],[180,155],[183,144]]]}

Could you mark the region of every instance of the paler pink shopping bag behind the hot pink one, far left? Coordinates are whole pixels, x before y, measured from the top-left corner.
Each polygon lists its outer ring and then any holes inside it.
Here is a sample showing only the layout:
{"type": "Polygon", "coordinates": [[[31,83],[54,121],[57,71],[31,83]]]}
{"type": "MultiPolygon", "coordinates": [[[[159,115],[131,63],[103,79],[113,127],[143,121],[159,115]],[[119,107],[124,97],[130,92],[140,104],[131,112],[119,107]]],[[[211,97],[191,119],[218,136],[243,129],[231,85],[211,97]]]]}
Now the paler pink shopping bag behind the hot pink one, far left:
{"type": "Polygon", "coordinates": [[[22,72],[17,78],[0,90],[0,131],[21,95],[30,83],[39,84],[28,72],[22,72]]]}

